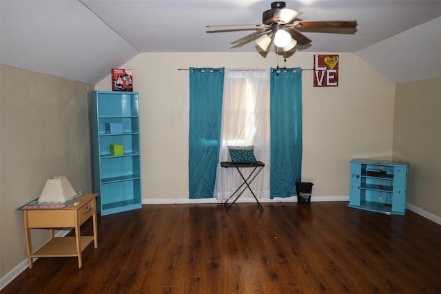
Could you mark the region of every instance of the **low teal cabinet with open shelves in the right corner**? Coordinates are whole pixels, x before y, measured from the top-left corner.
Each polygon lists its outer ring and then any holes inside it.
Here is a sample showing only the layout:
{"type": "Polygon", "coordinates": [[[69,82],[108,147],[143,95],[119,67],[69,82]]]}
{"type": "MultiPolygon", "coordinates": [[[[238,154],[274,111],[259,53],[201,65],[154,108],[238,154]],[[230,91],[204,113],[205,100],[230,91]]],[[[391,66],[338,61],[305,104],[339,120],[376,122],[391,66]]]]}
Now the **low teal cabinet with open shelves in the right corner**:
{"type": "Polygon", "coordinates": [[[409,163],[351,160],[349,207],[388,214],[406,213],[409,163]]]}

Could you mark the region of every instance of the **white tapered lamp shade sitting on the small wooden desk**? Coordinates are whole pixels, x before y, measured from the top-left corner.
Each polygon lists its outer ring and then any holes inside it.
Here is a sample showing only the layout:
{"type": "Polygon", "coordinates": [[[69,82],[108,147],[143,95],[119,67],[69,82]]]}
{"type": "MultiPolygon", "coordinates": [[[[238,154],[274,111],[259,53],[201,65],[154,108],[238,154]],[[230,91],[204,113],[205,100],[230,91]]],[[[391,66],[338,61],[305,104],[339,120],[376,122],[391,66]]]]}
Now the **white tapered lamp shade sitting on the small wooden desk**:
{"type": "Polygon", "coordinates": [[[76,195],[68,178],[56,176],[46,181],[39,202],[65,202],[76,195]]]}

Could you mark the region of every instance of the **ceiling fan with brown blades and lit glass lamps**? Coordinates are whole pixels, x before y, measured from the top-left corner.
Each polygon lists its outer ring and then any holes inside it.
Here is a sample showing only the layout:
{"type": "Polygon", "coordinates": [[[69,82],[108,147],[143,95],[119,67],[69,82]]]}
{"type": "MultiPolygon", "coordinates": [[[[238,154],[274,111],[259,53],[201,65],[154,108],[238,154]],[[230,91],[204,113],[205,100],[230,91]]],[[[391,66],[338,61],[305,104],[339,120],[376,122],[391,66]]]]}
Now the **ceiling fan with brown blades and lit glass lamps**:
{"type": "Polygon", "coordinates": [[[230,44],[243,45],[249,41],[255,40],[257,45],[267,51],[271,42],[278,48],[287,52],[296,45],[306,45],[311,43],[304,34],[298,29],[311,28],[318,32],[320,29],[355,29],[357,21],[301,21],[297,17],[302,12],[294,9],[285,8],[286,3],[282,1],[271,3],[271,9],[263,12],[262,23],[252,25],[207,25],[207,28],[220,27],[254,27],[254,28],[235,28],[229,30],[209,30],[207,32],[228,32],[237,30],[256,30],[243,38],[232,41],[230,44]]]}

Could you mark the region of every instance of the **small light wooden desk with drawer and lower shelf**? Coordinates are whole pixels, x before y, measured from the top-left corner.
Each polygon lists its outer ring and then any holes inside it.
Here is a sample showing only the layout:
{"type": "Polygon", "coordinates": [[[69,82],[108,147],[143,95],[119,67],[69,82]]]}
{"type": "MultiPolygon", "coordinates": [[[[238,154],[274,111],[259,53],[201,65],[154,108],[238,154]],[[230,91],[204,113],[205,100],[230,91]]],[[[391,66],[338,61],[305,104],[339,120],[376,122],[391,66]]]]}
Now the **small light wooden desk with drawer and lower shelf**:
{"type": "Polygon", "coordinates": [[[29,268],[32,269],[32,258],[48,257],[78,257],[78,267],[83,265],[81,253],[94,241],[98,248],[96,229],[96,196],[98,194],[83,194],[72,203],[60,209],[22,209],[25,218],[25,240],[28,251],[29,268]],[[74,205],[76,202],[78,204],[74,205]],[[93,218],[93,236],[81,236],[80,226],[90,217],[93,218]],[[54,237],[54,228],[75,228],[75,237],[54,237]],[[50,229],[50,240],[40,249],[32,253],[30,229],[50,229]]]}

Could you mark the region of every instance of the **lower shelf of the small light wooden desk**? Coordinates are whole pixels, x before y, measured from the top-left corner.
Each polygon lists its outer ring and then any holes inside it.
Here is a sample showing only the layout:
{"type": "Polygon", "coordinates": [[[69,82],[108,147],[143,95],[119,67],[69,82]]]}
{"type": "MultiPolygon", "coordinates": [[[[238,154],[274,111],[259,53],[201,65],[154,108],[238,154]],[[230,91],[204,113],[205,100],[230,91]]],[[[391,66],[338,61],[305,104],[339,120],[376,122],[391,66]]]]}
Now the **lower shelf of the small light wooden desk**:
{"type": "MultiPolygon", "coordinates": [[[[80,250],[81,252],[89,246],[94,240],[93,236],[81,236],[80,250]]],[[[40,249],[32,253],[32,258],[56,258],[56,257],[76,257],[75,237],[55,237],[44,244],[40,249]]]]}

